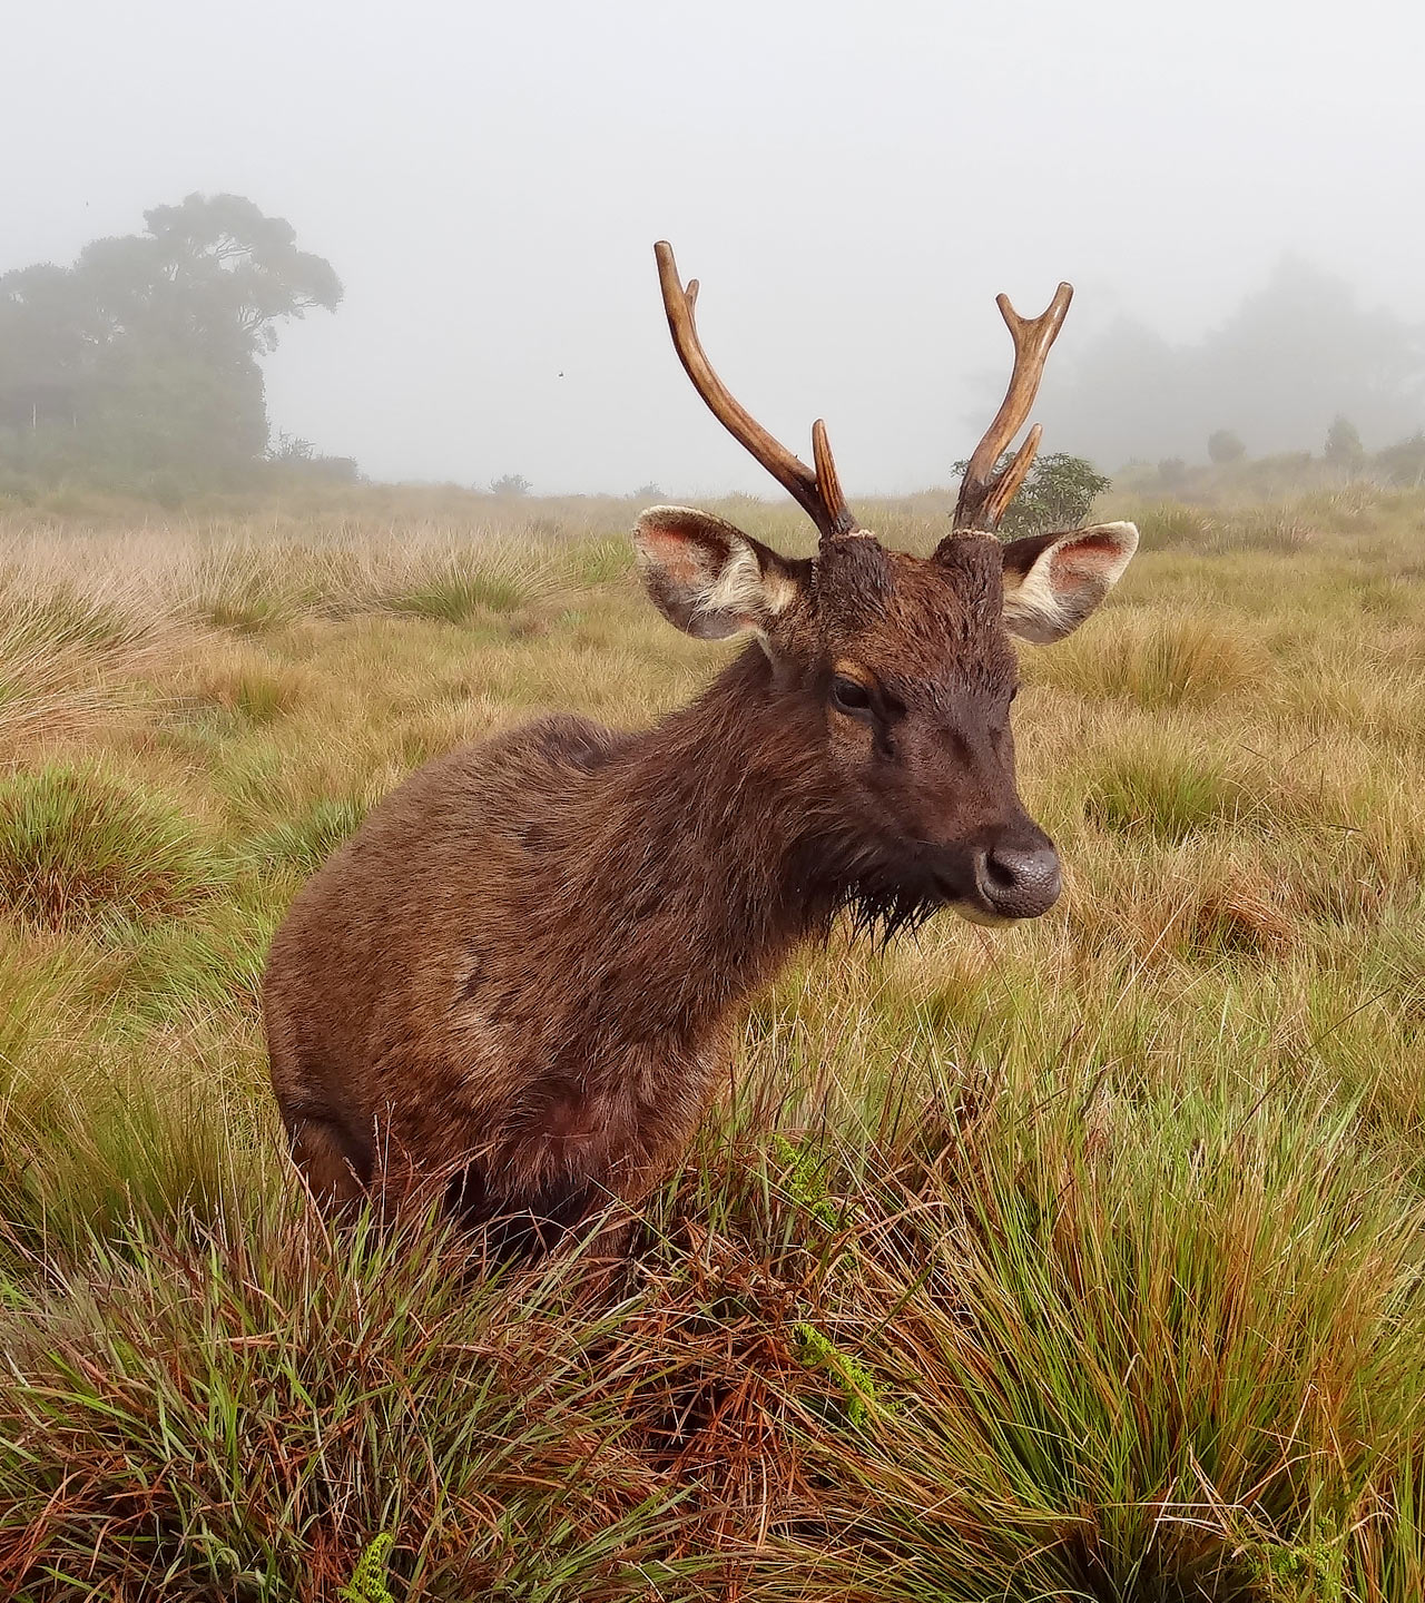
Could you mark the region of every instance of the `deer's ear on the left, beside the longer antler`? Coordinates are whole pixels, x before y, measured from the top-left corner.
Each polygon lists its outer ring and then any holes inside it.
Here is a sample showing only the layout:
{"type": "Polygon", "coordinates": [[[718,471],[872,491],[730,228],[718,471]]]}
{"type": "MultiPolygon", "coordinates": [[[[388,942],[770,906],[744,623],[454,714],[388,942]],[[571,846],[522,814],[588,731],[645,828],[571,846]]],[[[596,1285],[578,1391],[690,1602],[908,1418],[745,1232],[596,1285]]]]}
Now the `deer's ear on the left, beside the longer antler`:
{"type": "Polygon", "coordinates": [[[765,636],[797,600],[806,566],[691,507],[649,507],[633,527],[633,550],[652,604],[697,640],[765,636]]]}

